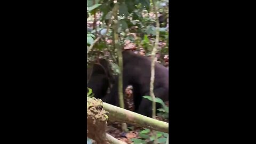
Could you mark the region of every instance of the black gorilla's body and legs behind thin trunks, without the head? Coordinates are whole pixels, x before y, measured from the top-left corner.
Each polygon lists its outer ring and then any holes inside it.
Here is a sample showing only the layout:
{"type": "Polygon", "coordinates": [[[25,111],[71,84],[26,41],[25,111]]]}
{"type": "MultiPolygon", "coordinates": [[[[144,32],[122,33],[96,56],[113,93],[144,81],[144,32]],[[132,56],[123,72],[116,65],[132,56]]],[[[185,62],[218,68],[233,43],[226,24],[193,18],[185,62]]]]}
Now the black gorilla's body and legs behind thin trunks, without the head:
{"type": "MultiPolygon", "coordinates": [[[[142,96],[149,95],[150,68],[150,58],[132,51],[123,51],[123,92],[128,85],[132,85],[135,112],[148,117],[152,116],[152,102],[142,96]]],[[[102,101],[119,106],[118,77],[115,79],[110,93],[102,101]]],[[[169,71],[159,63],[155,65],[154,94],[163,101],[169,100],[169,71]]],[[[159,103],[156,106],[161,107],[159,103]]]]}

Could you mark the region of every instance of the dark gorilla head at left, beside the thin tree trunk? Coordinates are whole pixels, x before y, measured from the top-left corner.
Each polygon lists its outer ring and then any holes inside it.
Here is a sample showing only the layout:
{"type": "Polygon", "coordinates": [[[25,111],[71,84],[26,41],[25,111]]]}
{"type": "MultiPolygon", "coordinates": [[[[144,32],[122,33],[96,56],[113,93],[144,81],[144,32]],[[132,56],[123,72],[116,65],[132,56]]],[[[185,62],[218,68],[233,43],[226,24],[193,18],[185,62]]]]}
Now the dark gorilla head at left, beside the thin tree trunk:
{"type": "Polygon", "coordinates": [[[114,77],[110,73],[109,62],[105,59],[99,59],[93,66],[87,69],[87,87],[92,89],[95,98],[102,98],[107,94],[107,90],[114,77]]]}

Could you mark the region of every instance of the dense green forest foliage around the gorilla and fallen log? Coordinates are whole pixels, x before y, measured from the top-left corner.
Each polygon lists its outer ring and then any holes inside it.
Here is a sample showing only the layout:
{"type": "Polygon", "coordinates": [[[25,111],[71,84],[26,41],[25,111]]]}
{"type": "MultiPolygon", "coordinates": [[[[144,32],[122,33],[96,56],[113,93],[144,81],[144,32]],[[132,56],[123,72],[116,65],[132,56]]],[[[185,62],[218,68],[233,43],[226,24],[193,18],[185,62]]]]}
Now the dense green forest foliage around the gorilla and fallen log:
{"type": "MultiPolygon", "coordinates": [[[[115,1],[87,0],[87,65],[95,62],[96,58],[105,58],[111,62],[113,72],[119,73],[117,54],[113,42],[113,7],[115,1]]],[[[138,53],[150,56],[156,35],[156,20],[152,12],[150,0],[118,0],[118,44],[124,49],[132,49],[138,53]]],[[[159,49],[157,61],[168,67],[169,63],[169,1],[156,1],[161,22],[159,49]]],[[[93,90],[89,90],[92,95],[93,90]]],[[[145,96],[151,100],[151,97],[145,96]]],[[[163,108],[159,115],[168,118],[169,109],[161,99],[156,99],[163,108]]],[[[131,128],[130,128],[131,129],[131,128]]],[[[139,133],[139,138],[131,139],[134,143],[147,143],[158,139],[165,143],[167,134],[157,132],[157,137],[150,137],[148,129],[139,133]]],[[[87,143],[92,143],[87,138],[87,143]]]]}

